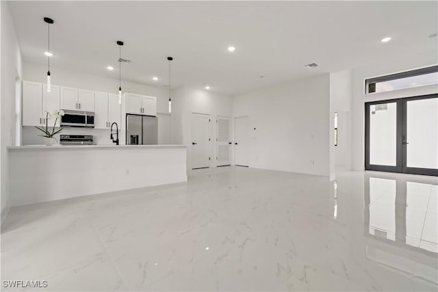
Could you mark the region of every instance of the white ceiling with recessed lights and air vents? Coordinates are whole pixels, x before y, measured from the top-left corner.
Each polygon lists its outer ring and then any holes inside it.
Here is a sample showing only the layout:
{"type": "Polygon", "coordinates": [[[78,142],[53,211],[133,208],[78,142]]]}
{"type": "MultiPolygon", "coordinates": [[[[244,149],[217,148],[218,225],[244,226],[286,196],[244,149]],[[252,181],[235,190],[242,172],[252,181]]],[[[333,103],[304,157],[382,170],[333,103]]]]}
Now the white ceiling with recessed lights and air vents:
{"type": "MultiPolygon", "coordinates": [[[[172,88],[239,94],[299,77],[437,50],[437,1],[11,1],[25,62],[172,88]],[[391,42],[381,38],[391,36],[391,42]],[[227,46],[236,47],[234,53],[227,46]],[[305,65],[316,62],[318,68],[305,65]],[[107,65],[116,67],[110,72],[107,65]],[[263,75],[265,78],[260,78],[263,75]],[[152,81],[152,77],[159,81],[152,81]]],[[[53,75],[56,72],[52,72],[53,75]]]]}

